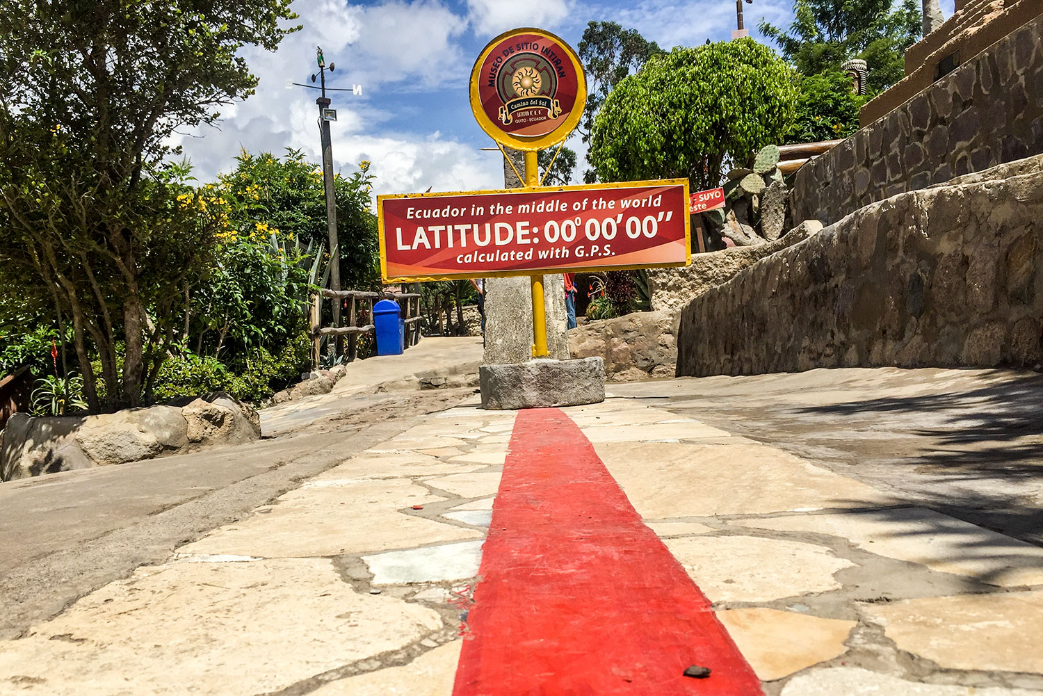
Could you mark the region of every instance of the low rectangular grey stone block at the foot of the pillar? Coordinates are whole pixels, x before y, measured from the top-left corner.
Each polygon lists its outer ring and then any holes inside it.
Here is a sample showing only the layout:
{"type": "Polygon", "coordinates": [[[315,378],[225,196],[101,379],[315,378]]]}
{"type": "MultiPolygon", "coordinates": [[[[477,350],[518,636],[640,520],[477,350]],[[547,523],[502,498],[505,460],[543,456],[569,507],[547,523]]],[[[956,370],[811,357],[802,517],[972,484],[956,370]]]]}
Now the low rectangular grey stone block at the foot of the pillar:
{"type": "Polygon", "coordinates": [[[482,408],[513,410],[580,406],[605,401],[605,361],[531,360],[482,365],[482,408]]]}

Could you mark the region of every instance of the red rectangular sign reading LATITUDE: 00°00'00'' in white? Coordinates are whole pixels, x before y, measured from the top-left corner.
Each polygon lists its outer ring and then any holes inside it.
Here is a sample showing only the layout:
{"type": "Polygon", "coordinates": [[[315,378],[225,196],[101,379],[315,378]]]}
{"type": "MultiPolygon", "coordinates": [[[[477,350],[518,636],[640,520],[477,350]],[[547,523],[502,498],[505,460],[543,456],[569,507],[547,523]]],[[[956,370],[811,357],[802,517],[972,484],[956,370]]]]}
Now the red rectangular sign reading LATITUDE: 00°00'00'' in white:
{"type": "Polygon", "coordinates": [[[384,282],[683,266],[686,179],[378,196],[384,282]]]}

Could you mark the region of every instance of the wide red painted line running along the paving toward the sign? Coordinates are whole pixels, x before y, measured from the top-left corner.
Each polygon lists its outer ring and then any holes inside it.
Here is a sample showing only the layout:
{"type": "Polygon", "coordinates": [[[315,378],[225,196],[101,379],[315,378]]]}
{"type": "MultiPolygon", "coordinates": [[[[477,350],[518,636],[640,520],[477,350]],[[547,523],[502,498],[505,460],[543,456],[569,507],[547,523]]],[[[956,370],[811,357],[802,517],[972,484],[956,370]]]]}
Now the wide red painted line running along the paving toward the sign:
{"type": "Polygon", "coordinates": [[[590,441],[518,411],[454,696],[753,696],[760,681],[590,441]],[[709,667],[704,679],[683,676],[709,667]]]}

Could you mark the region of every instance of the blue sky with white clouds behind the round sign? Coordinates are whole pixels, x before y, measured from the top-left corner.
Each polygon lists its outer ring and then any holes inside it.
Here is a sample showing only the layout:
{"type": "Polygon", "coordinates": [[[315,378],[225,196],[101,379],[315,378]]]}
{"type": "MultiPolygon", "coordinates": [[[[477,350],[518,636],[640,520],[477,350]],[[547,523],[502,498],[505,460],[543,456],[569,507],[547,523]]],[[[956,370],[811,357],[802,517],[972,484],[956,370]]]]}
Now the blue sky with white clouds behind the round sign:
{"type": "MultiPolygon", "coordinates": [[[[946,17],[953,0],[943,0],[946,17]]],[[[746,27],[761,18],[787,26],[793,0],[744,3],[746,27]]],[[[733,0],[296,0],[300,31],[276,52],[244,49],[259,77],[257,94],[221,110],[222,119],[173,138],[201,182],[235,167],[242,149],[285,153],[300,149],[321,160],[317,90],[286,89],[287,80],[311,83],[315,49],[321,46],[328,87],[362,86],[362,94],[330,92],[338,120],[332,123],[335,171],[350,174],[370,161],[375,193],[463,191],[501,188],[502,158],[475,122],[467,100],[475,59],[494,37],[518,26],[536,26],[574,48],[590,21],[614,21],[637,29],[663,48],[727,40],[735,28],[733,0]]],[[[576,182],[584,169],[578,136],[576,182]]]]}

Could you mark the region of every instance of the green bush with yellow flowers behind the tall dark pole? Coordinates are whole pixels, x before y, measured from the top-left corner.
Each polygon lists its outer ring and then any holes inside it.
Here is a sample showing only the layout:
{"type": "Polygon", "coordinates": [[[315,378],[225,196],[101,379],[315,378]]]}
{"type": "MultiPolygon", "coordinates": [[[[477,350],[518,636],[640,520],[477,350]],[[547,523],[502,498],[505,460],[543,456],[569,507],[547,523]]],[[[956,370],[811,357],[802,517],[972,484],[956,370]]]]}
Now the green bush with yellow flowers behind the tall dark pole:
{"type": "MultiPolygon", "coordinates": [[[[371,288],[379,272],[367,169],[363,163],[334,181],[341,278],[355,289],[371,288]]],[[[277,354],[306,330],[309,288],[329,278],[321,170],[295,150],[283,158],[244,151],[234,171],[201,191],[227,225],[214,267],[186,289],[181,340],[200,359],[216,358],[245,377],[260,349],[277,354]]]]}

